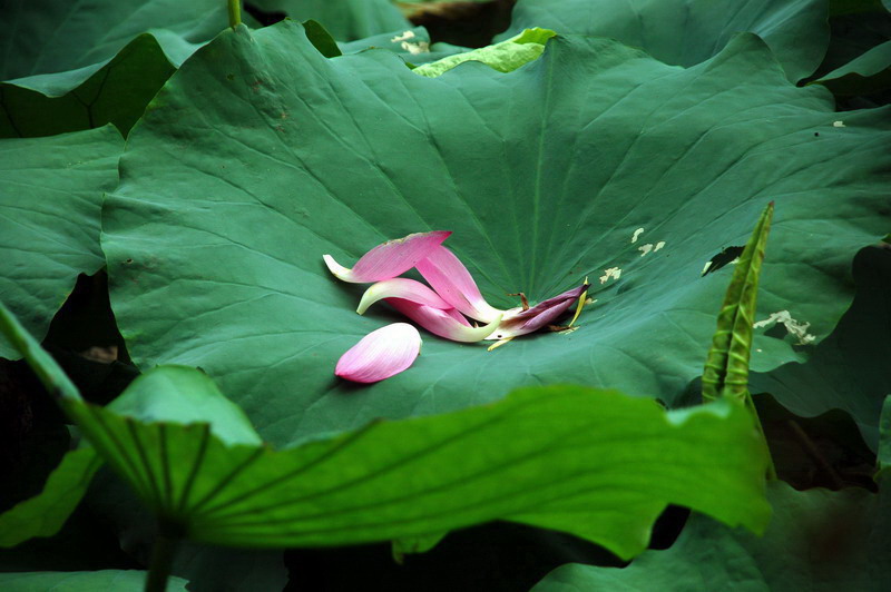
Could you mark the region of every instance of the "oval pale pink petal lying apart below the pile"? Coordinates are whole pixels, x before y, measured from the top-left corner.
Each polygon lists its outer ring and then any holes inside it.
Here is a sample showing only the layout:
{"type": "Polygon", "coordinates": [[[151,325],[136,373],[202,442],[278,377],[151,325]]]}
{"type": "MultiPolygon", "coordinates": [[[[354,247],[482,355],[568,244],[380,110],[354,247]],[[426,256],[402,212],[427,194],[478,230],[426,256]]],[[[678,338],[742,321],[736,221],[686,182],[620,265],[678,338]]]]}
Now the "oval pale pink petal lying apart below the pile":
{"type": "Polygon", "coordinates": [[[421,352],[421,334],[393,323],[362,337],[337,361],[334,374],[354,383],[376,383],[407,369],[421,352]]]}

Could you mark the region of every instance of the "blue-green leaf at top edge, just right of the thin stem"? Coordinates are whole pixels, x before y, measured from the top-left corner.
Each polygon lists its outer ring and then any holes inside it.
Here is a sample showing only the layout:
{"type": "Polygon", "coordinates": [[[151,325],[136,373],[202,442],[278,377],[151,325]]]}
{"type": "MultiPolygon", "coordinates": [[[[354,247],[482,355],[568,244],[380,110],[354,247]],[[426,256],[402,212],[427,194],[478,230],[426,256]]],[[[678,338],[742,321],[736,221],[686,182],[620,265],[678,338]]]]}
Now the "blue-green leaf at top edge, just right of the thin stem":
{"type": "Polygon", "coordinates": [[[254,0],[252,4],[292,19],[316,20],[339,41],[412,28],[390,0],[254,0]]]}

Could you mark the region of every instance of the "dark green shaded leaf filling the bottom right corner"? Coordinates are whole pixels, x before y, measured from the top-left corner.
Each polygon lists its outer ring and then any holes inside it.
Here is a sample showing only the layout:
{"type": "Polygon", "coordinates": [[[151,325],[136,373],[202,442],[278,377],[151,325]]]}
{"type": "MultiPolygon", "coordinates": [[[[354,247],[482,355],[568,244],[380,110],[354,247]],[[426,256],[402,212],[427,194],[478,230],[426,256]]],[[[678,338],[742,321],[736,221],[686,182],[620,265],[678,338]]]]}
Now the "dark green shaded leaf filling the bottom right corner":
{"type": "Polygon", "coordinates": [[[565,565],[532,591],[832,592],[882,590],[891,579],[887,491],[799,492],[775,481],[768,497],[774,516],[763,537],[694,515],[666,551],[647,551],[624,569],[565,565]]]}

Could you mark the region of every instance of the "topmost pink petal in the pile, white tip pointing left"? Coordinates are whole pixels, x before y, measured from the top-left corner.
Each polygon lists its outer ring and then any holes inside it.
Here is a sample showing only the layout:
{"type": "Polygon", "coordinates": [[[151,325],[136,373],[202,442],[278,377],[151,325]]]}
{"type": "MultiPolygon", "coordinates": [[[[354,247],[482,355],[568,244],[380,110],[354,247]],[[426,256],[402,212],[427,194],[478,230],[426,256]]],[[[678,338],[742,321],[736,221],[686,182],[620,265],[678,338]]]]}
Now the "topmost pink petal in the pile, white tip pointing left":
{"type": "Polygon", "coordinates": [[[322,258],[331,273],[344,282],[353,284],[380,282],[396,277],[414,267],[450,234],[449,230],[434,230],[388,240],[364,254],[352,269],[340,265],[331,255],[323,255],[322,258]]]}

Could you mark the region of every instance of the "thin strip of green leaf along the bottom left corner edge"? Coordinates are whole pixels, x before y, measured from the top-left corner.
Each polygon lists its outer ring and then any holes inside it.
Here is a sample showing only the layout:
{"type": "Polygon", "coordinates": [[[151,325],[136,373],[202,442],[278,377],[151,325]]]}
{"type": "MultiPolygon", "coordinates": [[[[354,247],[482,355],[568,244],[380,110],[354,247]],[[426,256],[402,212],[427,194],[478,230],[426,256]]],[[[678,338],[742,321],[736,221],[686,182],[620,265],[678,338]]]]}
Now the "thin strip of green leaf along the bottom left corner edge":
{"type": "MultiPolygon", "coordinates": [[[[11,592],[141,592],[146,572],[138,570],[99,570],[94,572],[0,573],[0,588],[11,592]]],[[[182,578],[167,581],[167,592],[186,592],[182,578]]]]}

